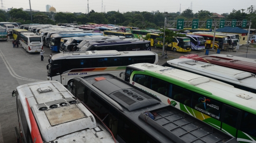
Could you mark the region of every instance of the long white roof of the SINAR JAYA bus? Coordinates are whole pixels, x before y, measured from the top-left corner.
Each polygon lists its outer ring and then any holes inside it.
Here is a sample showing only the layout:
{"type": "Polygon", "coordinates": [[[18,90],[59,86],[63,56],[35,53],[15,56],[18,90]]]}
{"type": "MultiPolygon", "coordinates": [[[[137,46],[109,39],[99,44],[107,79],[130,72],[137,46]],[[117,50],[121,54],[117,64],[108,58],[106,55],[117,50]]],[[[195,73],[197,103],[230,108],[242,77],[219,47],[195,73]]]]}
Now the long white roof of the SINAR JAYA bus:
{"type": "Polygon", "coordinates": [[[89,51],[69,51],[53,55],[53,60],[67,58],[86,58],[86,57],[105,57],[105,56],[135,56],[135,55],[155,55],[155,52],[150,50],[138,51],[117,51],[117,50],[89,50],[89,51]]]}

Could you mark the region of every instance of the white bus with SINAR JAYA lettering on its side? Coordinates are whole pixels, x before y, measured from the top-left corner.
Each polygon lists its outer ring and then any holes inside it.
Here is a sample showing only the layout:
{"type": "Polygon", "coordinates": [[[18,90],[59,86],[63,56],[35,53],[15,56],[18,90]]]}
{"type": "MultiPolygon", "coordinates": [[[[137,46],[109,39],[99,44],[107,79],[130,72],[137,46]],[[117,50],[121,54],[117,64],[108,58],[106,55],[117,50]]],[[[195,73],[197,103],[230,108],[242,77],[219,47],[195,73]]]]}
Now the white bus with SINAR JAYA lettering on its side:
{"type": "Polygon", "coordinates": [[[55,54],[46,66],[47,80],[55,80],[63,85],[73,82],[77,76],[110,73],[119,77],[126,66],[136,63],[158,64],[158,55],[149,50],[117,51],[92,50],[55,54]]]}

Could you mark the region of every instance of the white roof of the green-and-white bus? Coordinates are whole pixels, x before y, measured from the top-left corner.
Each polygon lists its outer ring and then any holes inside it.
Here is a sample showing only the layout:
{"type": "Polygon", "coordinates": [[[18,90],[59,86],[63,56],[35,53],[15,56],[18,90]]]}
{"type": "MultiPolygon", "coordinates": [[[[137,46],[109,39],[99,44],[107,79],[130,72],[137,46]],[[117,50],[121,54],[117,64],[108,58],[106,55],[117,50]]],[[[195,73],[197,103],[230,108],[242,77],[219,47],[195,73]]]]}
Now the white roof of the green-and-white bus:
{"type": "Polygon", "coordinates": [[[185,88],[193,89],[195,92],[205,93],[210,98],[222,101],[224,103],[229,103],[232,106],[239,107],[240,109],[256,114],[255,93],[247,92],[235,88],[230,84],[172,67],[162,67],[159,65],[145,63],[129,65],[127,67],[135,67],[149,73],[150,75],[157,74],[157,77],[160,77],[165,81],[175,79],[175,82],[180,82],[180,84],[183,84],[185,88]],[[219,86],[217,86],[217,84],[219,84],[219,86]]]}

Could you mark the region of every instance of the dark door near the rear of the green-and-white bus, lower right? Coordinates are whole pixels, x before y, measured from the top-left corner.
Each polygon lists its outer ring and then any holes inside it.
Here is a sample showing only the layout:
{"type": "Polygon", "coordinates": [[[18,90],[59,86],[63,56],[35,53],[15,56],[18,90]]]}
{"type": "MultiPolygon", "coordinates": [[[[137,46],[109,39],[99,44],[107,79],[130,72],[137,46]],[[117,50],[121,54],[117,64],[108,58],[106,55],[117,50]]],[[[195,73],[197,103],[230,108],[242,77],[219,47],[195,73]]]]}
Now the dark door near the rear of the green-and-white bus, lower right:
{"type": "Polygon", "coordinates": [[[240,128],[242,117],[242,110],[224,104],[221,115],[221,130],[225,133],[229,132],[230,135],[237,138],[238,128],[240,128]]]}

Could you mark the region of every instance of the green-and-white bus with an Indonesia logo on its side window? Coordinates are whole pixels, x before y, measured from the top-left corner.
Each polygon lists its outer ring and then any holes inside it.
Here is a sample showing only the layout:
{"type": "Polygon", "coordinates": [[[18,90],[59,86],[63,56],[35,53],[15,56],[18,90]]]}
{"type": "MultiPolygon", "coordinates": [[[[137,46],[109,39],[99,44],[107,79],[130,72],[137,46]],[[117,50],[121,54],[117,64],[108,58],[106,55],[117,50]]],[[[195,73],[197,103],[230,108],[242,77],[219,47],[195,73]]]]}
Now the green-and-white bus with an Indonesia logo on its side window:
{"type": "Polygon", "coordinates": [[[241,143],[256,139],[255,93],[220,81],[171,67],[134,64],[126,68],[125,80],[181,109],[241,143]]]}

